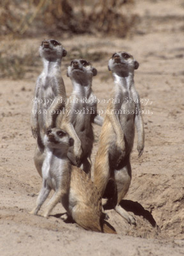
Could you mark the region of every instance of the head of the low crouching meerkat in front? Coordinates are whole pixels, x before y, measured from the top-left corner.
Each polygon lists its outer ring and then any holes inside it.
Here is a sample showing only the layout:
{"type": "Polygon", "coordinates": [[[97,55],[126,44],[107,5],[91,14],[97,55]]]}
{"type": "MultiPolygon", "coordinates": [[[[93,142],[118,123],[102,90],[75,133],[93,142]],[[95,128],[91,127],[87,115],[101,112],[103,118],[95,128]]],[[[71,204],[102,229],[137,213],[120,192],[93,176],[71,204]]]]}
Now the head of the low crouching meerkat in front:
{"type": "Polygon", "coordinates": [[[70,138],[67,132],[62,129],[49,129],[44,136],[43,143],[45,147],[61,148],[68,150],[68,147],[73,145],[73,139],[70,138]]]}

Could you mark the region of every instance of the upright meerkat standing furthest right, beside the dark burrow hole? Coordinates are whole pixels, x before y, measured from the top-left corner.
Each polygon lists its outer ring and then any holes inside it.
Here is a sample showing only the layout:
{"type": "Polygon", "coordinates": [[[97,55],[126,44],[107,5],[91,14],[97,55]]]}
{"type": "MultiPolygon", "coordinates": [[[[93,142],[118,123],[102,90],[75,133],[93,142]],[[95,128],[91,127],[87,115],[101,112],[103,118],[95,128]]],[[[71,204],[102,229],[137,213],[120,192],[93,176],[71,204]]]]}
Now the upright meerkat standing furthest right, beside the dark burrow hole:
{"type": "Polygon", "coordinates": [[[101,196],[108,192],[105,189],[109,180],[109,184],[114,180],[116,192],[111,202],[128,223],[135,223],[135,219],[120,207],[119,202],[126,195],[132,177],[130,152],[134,144],[134,124],[138,132],[139,157],[144,149],[141,106],[134,86],[134,70],[138,67],[139,63],[127,52],[116,52],[109,60],[114,93],[102,126],[94,173],[94,182],[101,196]]]}

